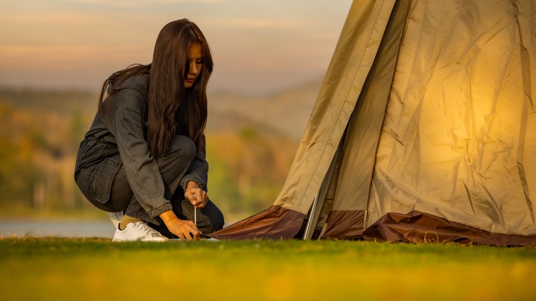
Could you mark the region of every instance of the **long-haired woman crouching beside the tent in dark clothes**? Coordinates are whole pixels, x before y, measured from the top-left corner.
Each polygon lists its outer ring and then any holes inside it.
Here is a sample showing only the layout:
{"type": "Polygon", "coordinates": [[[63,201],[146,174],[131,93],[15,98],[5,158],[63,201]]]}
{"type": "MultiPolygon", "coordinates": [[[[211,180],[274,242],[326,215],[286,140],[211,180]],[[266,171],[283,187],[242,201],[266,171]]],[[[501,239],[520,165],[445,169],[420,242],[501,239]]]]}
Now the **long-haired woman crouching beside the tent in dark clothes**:
{"type": "Polygon", "coordinates": [[[97,208],[124,212],[113,241],[198,240],[223,227],[207,194],[203,131],[212,66],[205,36],[182,19],[162,28],[152,63],[104,81],[75,181],[97,208]]]}

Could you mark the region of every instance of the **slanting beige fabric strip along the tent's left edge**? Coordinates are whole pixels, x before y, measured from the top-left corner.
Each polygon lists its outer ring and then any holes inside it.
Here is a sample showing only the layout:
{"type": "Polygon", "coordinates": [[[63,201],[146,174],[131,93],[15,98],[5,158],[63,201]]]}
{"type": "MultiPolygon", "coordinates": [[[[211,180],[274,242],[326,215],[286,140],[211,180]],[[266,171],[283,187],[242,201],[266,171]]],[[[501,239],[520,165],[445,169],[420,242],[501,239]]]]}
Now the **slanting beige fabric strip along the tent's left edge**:
{"type": "Polygon", "coordinates": [[[354,3],[311,119],[274,205],[306,214],[326,175],[375,58],[394,0],[354,3]]]}

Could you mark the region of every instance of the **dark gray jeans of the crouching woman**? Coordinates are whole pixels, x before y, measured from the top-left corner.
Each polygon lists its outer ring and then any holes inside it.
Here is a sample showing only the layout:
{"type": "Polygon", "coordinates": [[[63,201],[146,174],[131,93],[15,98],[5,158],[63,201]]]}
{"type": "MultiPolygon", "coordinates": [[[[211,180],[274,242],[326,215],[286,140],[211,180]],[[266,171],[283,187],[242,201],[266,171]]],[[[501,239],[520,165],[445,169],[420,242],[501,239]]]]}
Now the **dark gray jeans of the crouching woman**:
{"type": "MultiPolygon", "coordinates": [[[[164,180],[164,185],[166,186],[164,195],[166,199],[171,201],[173,212],[175,212],[179,219],[193,221],[194,207],[190,201],[184,198],[184,191],[180,186],[181,180],[190,167],[195,155],[192,153],[192,148],[190,147],[192,142],[191,140],[188,141],[188,139],[188,137],[184,136],[174,137],[170,150],[156,159],[160,175],[155,175],[155,177],[161,176],[164,180]]],[[[159,217],[150,217],[137,201],[126,178],[126,172],[123,168],[120,155],[117,153],[112,155],[110,159],[117,161],[119,164],[113,170],[92,168],[95,166],[93,165],[90,168],[81,168],[76,172],[75,180],[82,194],[100,210],[107,212],[123,211],[129,216],[148,221],[162,234],[172,236],[161,219],[159,217]],[[99,172],[98,177],[96,177],[96,172],[99,172]],[[103,203],[102,199],[99,200],[95,197],[92,186],[100,186],[101,184],[102,186],[106,186],[110,180],[105,177],[107,175],[113,181],[109,190],[109,198],[103,203]],[[102,181],[102,183],[96,183],[96,181],[102,181]]],[[[223,223],[223,214],[212,201],[209,200],[205,208],[197,210],[197,227],[203,234],[221,230],[223,223]]]]}

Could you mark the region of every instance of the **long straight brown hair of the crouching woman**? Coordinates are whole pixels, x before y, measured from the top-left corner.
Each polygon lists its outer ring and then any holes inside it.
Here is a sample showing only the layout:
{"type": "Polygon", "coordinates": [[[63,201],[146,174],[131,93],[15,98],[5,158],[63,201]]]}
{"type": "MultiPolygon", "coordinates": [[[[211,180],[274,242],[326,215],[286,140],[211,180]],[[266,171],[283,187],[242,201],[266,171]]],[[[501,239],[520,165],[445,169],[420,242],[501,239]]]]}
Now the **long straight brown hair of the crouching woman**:
{"type": "MultiPolygon", "coordinates": [[[[131,76],[148,74],[147,142],[151,154],[157,157],[166,153],[173,135],[190,137],[199,153],[207,124],[206,91],[213,67],[210,47],[199,27],[188,19],[172,21],[161,29],[157,37],[152,63],[131,65],[104,81],[100,91],[99,111],[109,84],[117,87],[131,76]],[[201,45],[203,67],[192,87],[186,89],[184,80],[190,69],[188,53],[196,43],[201,45]]],[[[117,90],[109,93],[109,108],[115,91],[117,90]]]]}

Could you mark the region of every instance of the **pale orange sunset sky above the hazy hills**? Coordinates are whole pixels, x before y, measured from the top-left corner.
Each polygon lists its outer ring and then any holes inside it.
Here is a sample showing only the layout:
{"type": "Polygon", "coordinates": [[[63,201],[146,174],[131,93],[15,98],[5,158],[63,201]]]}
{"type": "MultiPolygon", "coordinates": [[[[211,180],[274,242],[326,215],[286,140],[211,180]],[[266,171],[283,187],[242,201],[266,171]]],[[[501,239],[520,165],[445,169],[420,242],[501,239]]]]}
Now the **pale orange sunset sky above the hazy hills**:
{"type": "Polygon", "coordinates": [[[0,3],[0,86],[98,90],[150,63],[161,27],[205,34],[212,91],[272,93],[322,78],[351,0],[22,0],[0,3]]]}

